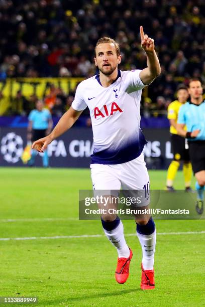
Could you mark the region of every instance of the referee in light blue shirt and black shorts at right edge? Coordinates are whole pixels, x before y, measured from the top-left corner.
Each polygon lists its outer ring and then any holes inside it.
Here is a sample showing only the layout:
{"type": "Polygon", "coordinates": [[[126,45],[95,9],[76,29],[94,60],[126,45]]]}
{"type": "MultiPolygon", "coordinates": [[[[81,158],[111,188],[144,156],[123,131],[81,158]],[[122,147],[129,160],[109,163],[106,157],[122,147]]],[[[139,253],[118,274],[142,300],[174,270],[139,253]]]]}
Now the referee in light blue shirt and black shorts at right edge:
{"type": "Polygon", "coordinates": [[[203,194],[205,185],[205,100],[198,79],[191,79],[188,92],[190,101],[181,106],[177,121],[177,132],[188,139],[190,161],[196,178],[196,211],[203,213],[203,194]],[[187,127],[187,132],[184,126],[187,127]]]}

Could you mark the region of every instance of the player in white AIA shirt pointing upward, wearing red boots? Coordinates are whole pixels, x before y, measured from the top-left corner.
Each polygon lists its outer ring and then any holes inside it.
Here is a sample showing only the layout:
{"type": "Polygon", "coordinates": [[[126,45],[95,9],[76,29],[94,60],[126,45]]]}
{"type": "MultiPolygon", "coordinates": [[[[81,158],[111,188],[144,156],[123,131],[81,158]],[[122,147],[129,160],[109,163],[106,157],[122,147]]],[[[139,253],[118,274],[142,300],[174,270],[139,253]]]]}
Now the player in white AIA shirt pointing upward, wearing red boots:
{"type": "MultiPolygon", "coordinates": [[[[91,178],[95,190],[143,190],[149,176],[142,154],[146,143],[140,129],[142,89],[159,74],[160,64],[154,40],[140,27],[141,45],[147,55],[143,70],[120,71],[119,45],[111,38],[99,39],[95,47],[95,65],[99,74],[82,81],[70,109],[61,117],[50,135],[33,143],[43,152],[53,139],[68,130],[88,106],[93,130],[91,178]]],[[[126,282],[132,250],[128,247],[123,224],[116,214],[104,215],[102,227],[118,252],[116,280],[126,282]]],[[[156,231],[153,219],[136,219],[137,236],[142,246],[142,289],[153,289],[156,231]]]]}

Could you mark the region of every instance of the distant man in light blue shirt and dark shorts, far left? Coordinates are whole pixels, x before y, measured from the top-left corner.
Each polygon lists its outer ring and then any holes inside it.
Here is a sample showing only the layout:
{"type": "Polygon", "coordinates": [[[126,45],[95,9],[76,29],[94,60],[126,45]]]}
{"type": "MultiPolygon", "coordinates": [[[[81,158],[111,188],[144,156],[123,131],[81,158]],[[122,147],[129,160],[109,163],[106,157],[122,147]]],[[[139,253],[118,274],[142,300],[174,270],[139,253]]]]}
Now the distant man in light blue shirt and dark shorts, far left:
{"type": "MultiPolygon", "coordinates": [[[[38,100],[36,102],[36,109],[32,110],[29,114],[27,139],[35,141],[39,138],[45,137],[51,132],[52,127],[53,120],[50,111],[44,108],[44,102],[42,100],[38,100]]],[[[36,155],[37,151],[32,149],[31,159],[28,162],[30,167],[34,166],[36,155]]],[[[42,160],[43,167],[48,168],[49,158],[47,150],[44,150],[42,160]]]]}

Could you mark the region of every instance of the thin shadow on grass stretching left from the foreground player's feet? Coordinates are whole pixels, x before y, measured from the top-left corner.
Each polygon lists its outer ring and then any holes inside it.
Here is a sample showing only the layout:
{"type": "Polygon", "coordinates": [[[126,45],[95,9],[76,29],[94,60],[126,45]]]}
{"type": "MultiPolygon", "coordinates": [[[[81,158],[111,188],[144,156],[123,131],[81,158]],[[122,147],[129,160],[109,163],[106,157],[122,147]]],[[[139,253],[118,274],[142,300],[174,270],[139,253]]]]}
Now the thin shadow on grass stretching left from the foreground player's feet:
{"type": "Polygon", "coordinates": [[[62,298],[62,299],[57,299],[57,300],[52,300],[52,301],[39,301],[39,304],[45,303],[46,305],[50,304],[55,304],[55,303],[74,303],[75,301],[81,301],[81,300],[86,300],[86,299],[92,299],[92,298],[100,298],[100,297],[109,297],[109,296],[118,296],[126,293],[131,293],[131,292],[139,292],[142,291],[140,288],[135,288],[135,289],[128,289],[128,290],[119,290],[119,291],[114,291],[114,292],[109,292],[109,293],[99,293],[99,294],[91,294],[91,295],[86,295],[84,294],[83,296],[75,296],[71,298],[62,298]]]}

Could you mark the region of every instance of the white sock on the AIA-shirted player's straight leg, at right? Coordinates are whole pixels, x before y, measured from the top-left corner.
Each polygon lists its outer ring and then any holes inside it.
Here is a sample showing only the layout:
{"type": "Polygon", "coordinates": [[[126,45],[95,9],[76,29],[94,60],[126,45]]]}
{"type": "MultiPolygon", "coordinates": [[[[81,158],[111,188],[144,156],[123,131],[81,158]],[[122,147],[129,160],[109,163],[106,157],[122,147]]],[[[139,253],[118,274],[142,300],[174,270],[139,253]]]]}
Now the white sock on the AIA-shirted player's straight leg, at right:
{"type": "Polygon", "coordinates": [[[142,246],[142,265],[145,270],[152,270],[154,265],[154,252],[156,245],[156,229],[150,235],[143,235],[137,232],[138,239],[142,246]]]}

